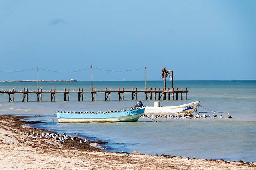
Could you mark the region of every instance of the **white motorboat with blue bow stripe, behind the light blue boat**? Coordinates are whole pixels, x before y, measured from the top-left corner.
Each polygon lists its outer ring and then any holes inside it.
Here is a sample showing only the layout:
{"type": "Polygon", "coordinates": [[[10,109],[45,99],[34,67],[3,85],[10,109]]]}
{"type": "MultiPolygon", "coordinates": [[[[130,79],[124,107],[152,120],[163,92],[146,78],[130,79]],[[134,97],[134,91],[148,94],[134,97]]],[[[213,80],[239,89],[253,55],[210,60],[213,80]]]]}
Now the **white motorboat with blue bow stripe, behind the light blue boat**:
{"type": "Polygon", "coordinates": [[[178,106],[160,106],[160,102],[154,102],[154,106],[145,106],[144,113],[192,113],[199,105],[200,101],[182,104],[178,106]]]}

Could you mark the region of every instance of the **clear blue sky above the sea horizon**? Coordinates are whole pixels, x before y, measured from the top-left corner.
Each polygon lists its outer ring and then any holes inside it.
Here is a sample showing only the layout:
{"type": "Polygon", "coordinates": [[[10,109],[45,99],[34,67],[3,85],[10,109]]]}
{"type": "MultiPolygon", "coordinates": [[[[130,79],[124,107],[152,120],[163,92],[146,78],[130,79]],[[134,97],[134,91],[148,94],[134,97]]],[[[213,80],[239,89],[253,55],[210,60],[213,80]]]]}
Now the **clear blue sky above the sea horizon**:
{"type": "Polygon", "coordinates": [[[255,80],[256,1],[0,0],[0,59],[0,80],[255,80]]]}

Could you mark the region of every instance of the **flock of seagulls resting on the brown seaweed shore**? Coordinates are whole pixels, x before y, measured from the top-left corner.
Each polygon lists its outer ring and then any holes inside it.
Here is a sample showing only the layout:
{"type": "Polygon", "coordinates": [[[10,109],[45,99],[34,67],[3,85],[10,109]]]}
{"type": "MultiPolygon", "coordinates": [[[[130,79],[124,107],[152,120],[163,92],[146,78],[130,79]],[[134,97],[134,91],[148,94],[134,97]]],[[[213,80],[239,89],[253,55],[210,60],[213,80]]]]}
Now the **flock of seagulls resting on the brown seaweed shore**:
{"type": "Polygon", "coordinates": [[[42,134],[36,133],[36,132],[22,132],[22,135],[26,135],[27,137],[40,137],[40,138],[46,138],[46,139],[55,139],[54,142],[60,142],[64,143],[68,140],[76,141],[80,140],[80,143],[86,142],[86,139],[80,139],[78,137],[69,136],[66,133],[58,134],[58,133],[46,133],[42,132],[42,134]]]}

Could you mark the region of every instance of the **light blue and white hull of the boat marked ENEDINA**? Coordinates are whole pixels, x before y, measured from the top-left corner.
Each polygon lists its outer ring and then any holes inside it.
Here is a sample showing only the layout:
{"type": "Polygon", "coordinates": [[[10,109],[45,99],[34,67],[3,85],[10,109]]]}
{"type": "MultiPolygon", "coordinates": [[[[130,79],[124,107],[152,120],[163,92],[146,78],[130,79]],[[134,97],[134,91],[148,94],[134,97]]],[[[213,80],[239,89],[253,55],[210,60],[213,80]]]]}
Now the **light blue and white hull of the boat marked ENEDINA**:
{"type": "Polygon", "coordinates": [[[145,108],[118,113],[57,113],[60,123],[90,123],[90,122],[136,122],[144,113],[145,108]]]}

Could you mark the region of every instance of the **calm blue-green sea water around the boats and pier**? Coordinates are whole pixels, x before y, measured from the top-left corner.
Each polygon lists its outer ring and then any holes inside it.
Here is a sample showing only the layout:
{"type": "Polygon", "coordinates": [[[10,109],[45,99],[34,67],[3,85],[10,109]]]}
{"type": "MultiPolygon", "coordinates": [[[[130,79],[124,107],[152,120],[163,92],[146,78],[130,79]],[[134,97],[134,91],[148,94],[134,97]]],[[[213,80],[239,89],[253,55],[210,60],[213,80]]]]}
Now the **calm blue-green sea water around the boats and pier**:
{"type": "MultiPolygon", "coordinates": [[[[147,81],[147,88],[161,88],[163,81],[147,81]]],[[[166,81],[166,87],[171,82],[166,81]]],[[[29,94],[29,102],[21,102],[22,94],[15,94],[15,102],[7,102],[8,94],[0,95],[0,113],[6,115],[40,115],[28,118],[44,123],[34,127],[67,133],[89,140],[106,141],[104,150],[111,152],[141,152],[144,154],[170,154],[173,156],[202,159],[243,160],[256,162],[256,80],[214,80],[174,81],[174,88],[188,88],[188,100],[160,101],[161,106],[175,106],[200,100],[198,111],[202,114],[222,115],[214,119],[151,119],[140,118],[134,123],[58,123],[56,111],[106,111],[129,109],[137,101],[132,94],[125,94],[124,101],[118,101],[117,94],[111,94],[111,101],[104,101],[104,94],[97,94],[97,101],[90,101],[91,94],[84,94],[84,101],[78,102],[78,94],[70,94],[70,101],[64,102],[63,94],[56,94],[56,102],[50,102],[50,94],[43,94],[42,102],[36,102],[36,94],[29,94]],[[227,118],[230,113],[232,119],[227,118]],[[54,120],[54,121],[53,121],[54,120]]],[[[36,90],[36,82],[0,82],[0,90],[36,90]]],[[[39,82],[42,90],[70,91],[83,88],[91,90],[91,82],[39,82]]],[[[111,88],[144,90],[144,81],[93,82],[97,91],[111,88]]],[[[185,95],[184,95],[185,96],[185,95]]],[[[183,96],[183,99],[185,99],[183,96]]],[[[176,99],[176,96],[175,96],[176,99]]],[[[153,106],[154,100],[145,100],[138,94],[137,100],[146,106],[153,106]]]]}

